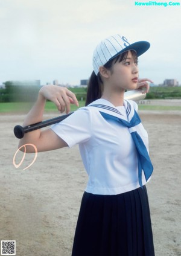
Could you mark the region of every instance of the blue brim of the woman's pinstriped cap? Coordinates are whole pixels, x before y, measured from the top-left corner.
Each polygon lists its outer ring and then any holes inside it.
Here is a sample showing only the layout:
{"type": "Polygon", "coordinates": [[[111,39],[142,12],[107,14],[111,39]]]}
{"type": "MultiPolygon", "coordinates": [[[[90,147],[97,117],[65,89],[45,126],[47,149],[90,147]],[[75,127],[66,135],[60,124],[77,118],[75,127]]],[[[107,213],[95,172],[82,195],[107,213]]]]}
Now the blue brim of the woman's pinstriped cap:
{"type": "Polygon", "coordinates": [[[147,41],[139,41],[136,43],[132,43],[131,45],[129,45],[129,46],[125,47],[124,49],[122,49],[121,51],[119,51],[119,53],[116,53],[115,56],[110,58],[110,60],[112,60],[119,54],[124,53],[125,51],[129,51],[129,50],[136,51],[136,54],[139,57],[143,53],[145,53],[145,51],[147,51],[149,48],[150,48],[150,43],[147,41]]]}

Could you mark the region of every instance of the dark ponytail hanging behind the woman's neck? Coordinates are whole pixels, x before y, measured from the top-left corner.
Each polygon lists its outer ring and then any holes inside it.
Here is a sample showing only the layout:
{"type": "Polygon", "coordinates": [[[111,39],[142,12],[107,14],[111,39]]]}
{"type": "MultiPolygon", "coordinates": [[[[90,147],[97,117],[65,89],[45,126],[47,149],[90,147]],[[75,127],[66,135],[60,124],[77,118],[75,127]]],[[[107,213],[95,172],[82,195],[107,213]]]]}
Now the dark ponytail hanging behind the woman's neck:
{"type": "Polygon", "coordinates": [[[92,103],[92,101],[98,100],[101,98],[102,89],[101,89],[101,77],[100,74],[98,76],[93,71],[90,75],[89,83],[87,86],[87,97],[86,97],[86,106],[92,103]]]}

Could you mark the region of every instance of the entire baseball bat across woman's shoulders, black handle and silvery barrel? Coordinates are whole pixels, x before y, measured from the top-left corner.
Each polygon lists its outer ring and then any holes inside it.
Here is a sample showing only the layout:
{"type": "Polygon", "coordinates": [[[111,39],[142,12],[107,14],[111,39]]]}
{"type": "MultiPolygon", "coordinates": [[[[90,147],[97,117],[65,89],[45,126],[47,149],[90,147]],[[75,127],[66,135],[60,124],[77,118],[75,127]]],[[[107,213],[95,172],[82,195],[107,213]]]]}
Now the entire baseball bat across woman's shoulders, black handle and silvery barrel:
{"type": "MultiPolygon", "coordinates": [[[[125,92],[124,99],[134,100],[134,101],[142,100],[146,96],[146,94],[143,94],[144,91],[145,89],[136,89],[136,90],[125,92]]],[[[32,132],[33,130],[37,130],[46,126],[51,126],[52,124],[59,123],[73,113],[74,112],[71,112],[67,115],[62,115],[60,117],[48,119],[36,124],[30,124],[29,126],[25,126],[25,127],[17,125],[14,127],[14,135],[16,136],[16,138],[21,139],[24,137],[25,133],[32,132]]]]}

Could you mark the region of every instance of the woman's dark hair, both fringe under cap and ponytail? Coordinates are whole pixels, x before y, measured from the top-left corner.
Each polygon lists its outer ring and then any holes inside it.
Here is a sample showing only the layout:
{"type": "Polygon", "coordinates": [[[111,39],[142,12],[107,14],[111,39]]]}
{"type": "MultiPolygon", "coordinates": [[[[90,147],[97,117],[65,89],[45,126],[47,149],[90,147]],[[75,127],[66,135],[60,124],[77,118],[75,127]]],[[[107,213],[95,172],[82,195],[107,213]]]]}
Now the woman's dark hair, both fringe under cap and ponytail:
{"type": "MultiPolygon", "coordinates": [[[[113,64],[116,62],[122,62],[122,60],[127,58],[128,51],[125,51],[124,53],[118,55],[112,60],[109,60],[104,67],[110,71],[112,71],[113,64]]],[[[136,62],[138,60],[138,57],[136,55],[135,51],[131,51],[134,61],[136,62]]],[[[101,98],[103,94],[103,81],[101,79],[100,72],[96,75],[93,71],[89,78],[89,83],[87,86],[87,97],[86,97],[86,106],[92,103],[92,101],[98,100],[98,98],[101,98]]]]}

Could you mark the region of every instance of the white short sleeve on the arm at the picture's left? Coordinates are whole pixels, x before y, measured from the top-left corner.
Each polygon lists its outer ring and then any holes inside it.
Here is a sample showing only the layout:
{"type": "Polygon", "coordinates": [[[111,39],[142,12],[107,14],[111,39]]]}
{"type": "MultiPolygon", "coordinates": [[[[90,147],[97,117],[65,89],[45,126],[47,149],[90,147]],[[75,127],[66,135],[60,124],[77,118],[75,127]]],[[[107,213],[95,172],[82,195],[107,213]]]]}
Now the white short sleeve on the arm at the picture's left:
{"type": "Polygon", "coordinates": [[[62,138],[69,147],[86,142],[90,139],[92,130],[92,115],[90,109],[81,107],[51,129],[62,138]]]}

